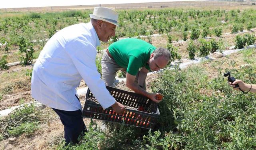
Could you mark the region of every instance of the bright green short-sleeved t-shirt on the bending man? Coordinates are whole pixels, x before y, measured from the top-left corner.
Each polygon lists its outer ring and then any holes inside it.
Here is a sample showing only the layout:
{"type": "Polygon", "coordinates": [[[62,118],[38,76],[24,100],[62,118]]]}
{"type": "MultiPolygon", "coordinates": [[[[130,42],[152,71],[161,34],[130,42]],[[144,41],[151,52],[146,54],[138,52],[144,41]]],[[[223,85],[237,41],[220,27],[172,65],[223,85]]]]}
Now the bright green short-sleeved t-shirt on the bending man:
{"type": "Polygon", "coordinates": [[[108,47],[116,63],[127,68],[126,71],[133,76],[136,76],[139,68],[144,66],[150,70],[147,62],[154,50],[156,48],[153,45],[136,38],[119,40],[108,47]]]}

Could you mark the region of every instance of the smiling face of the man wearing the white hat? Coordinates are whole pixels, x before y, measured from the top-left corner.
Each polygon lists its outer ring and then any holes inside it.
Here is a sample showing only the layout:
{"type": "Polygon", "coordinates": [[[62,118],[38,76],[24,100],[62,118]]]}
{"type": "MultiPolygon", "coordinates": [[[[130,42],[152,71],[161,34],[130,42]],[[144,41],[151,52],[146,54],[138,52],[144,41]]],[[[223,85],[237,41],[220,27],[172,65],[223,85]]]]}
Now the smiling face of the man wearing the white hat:
{"type": "Polygon", "coordinates": [[[102,42],[108,42],[108,40],[116,35],[116,25],[108,22],[102,22],[98,37],[102,42]]]}

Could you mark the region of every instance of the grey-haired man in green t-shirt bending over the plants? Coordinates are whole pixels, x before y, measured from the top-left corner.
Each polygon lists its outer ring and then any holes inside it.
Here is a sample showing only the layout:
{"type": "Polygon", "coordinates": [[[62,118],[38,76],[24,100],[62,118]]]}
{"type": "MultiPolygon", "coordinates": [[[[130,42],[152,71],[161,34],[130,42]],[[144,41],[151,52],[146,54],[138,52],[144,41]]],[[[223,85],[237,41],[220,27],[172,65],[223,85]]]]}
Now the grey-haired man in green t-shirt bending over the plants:
{"type": "Polygon", "coordinates": [[[116,72],[126,74],[126,86],[138,94],[147,96],[154,102],[159,93],[146,92],[145,79],[149,70],[158,71],[170,61],[170,52],[166,48],[156,49],[153,45],[136,38],[127,38],[111,44],[101,60],[102,80],[108,86],[114,86],[116,72]],[[140,69],[141,68],[141,69],[140,69]]]}

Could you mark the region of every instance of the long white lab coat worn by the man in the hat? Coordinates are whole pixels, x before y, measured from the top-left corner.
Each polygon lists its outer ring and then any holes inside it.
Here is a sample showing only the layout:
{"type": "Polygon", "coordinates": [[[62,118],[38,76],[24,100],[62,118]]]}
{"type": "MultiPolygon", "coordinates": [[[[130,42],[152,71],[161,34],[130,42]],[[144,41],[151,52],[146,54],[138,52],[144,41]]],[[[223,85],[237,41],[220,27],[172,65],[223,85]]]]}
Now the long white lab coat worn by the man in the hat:
{"type": "Polygon", "coordinates": [[[32,97],[51,108],[75,111],[82,106],[75,94],[84,79],[103,108],[116,100],[106,90],[96,67],[100,40],[92,23],[80,23],[58,31],[44,46],[34,64],[32,97]]]}

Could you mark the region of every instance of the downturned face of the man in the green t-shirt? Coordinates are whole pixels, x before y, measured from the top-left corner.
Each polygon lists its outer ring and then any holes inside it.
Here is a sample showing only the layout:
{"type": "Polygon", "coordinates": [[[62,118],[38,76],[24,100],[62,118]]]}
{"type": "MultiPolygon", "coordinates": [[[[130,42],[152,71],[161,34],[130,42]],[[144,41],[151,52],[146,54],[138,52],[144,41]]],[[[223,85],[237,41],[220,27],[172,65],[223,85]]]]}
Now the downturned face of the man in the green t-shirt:
{"type": "Polygon", "coordinates": [[[168,63],[169,60],[167,60],[164,56],[160,56],[155,59],[154,54],[152,53],[150,55],[148,65],[151,71],[158,71],[160,69],[163,69],[168,63]]]}

